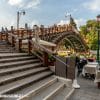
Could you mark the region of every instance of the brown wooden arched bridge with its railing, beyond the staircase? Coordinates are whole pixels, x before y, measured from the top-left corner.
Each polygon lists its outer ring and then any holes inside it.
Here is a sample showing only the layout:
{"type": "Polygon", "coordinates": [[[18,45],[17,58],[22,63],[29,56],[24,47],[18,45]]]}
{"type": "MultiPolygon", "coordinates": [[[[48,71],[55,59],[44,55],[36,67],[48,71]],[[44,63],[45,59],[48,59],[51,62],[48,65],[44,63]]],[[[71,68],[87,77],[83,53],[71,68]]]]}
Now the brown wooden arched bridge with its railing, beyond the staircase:
{"type": "MultiPolygon", "coordinates": [[[[45,28],[43,25],[41,25],[40,27],[34,25],[33,29],[28,29],[28,26],[26,25],[25,28],[19,30],[16,30],[13,27],[11,27],[11,30],[5,28],[0,34],[1,40],[7,40],[9,33],[20,37],[20,42],[22,41],[21,38],[38,37],[41,40],[49,41],[58,45],[61,40],[64,40],[66,38],[67,42],[71,44],[71,47],[76,52],[83,52],[88,50],[88,47],[83,38],[81,37],[80,33],[71,25],[53,25],[49,28],[45,28]]],[[[15,37],[13,37],[12,41],[10,41],[12,42],[12,45],[15,45],[14,38],[15,37]]]]}

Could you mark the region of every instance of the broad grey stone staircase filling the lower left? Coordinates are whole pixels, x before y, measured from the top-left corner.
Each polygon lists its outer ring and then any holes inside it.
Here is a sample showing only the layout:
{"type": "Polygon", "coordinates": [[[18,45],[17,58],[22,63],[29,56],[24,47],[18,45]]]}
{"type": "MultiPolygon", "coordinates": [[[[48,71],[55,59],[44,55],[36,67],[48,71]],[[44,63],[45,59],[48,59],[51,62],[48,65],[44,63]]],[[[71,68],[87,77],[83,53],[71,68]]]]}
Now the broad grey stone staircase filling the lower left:
{"type": "Polygon", "coordinates": [[[71,84],[34,55],[0,53],[0,100],[68,100],[71,84]]]}

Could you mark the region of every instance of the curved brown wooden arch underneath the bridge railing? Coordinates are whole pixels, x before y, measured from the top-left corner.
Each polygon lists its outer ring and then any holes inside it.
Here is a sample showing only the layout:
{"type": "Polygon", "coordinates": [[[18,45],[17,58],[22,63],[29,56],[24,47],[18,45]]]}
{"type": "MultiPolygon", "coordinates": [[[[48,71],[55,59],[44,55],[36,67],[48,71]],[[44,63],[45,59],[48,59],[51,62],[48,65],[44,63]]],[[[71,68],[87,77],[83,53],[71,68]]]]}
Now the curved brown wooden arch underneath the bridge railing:
{"type": "Polygon", "coordinates": [[[52,42],[59,45],[63,39],[67,39],[76,52],[87,51],[88,47],[80,34],[75,32],[62,32],[52,39],[52,42]]]}

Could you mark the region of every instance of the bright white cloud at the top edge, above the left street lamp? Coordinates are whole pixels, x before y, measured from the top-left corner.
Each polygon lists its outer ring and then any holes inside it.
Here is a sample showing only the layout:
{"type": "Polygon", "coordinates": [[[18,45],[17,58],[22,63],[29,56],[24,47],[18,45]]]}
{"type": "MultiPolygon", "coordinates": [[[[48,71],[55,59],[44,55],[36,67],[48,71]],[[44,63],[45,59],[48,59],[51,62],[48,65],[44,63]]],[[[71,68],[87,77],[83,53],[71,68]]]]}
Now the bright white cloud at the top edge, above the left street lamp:
{"type": "Polygon", "coordinates": [[[40,0],[8,0],[8,4],[20,8],[37,8],[40,0]]]}

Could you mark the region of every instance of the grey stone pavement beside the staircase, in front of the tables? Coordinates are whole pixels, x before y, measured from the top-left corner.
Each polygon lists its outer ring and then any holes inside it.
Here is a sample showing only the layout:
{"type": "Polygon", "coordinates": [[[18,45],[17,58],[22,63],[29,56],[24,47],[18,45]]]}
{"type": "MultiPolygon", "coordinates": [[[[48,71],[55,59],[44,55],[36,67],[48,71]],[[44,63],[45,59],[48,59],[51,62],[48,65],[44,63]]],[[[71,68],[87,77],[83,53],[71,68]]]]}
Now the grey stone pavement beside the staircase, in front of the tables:
{"type": "Polygon", "coordinates": [[[78,83],[81,88],[75,90],[70,100],[100,100],[100,89],[93,80],[80,76],[78,83]]]}

